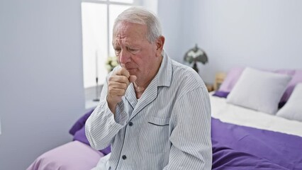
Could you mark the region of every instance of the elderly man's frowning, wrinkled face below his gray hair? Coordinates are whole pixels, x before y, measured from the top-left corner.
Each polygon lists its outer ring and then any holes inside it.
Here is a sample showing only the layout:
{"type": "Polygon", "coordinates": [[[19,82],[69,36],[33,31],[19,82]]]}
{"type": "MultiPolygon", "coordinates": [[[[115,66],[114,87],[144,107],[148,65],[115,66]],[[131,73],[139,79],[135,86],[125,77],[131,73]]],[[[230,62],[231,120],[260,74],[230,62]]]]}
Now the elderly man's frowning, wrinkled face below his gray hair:
{"type": "Polygon", "coordinates": [[[151,70],[157,69],[157,45],[147,40],[146,33],[147,26],[127,22],[119,23],[113,33],[112,44],[121,67],[138,81],[145,81],[151,70]]]}

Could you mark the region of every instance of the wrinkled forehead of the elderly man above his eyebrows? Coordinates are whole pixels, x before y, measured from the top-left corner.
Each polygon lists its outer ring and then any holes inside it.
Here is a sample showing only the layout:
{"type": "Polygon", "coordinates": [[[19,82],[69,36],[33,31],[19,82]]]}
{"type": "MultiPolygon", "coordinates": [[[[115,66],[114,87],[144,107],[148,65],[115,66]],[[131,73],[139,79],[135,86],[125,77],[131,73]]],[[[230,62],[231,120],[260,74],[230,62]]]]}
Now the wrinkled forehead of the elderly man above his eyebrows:
{"type": "Polygon", "coordinates": [[[147,26],[138,23],[117,23],[113,30],[113,42],[123,39],[147,40],[147,26]]]}

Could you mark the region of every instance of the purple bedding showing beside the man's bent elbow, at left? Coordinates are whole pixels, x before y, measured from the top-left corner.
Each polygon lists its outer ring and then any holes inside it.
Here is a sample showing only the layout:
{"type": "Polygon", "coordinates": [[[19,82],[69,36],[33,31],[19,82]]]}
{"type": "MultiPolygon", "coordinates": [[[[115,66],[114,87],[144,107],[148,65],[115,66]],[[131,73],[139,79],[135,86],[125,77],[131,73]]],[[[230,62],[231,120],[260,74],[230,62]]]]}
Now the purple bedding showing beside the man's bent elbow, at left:
{"type": "MultiPolygon", "coordinates": [[[[89,141],[87,140],[87,137],[85,135],[85,123],[93,111],[94,111],[94,109],[92,109],[88,113],[84,114],[81,118],[79,118],[79,120],[77,120],[76,123],[74,123],[72,128],[69,130],[69,133],[74,136],[73,140],[83,142],[84,144],[90,146],[89,141]]],[[[106,147],[105,149],[99,150],[99,152],[103,153],[104,155],[110,153],[111,152],[110,145],[108,147],[106,147]]]]}

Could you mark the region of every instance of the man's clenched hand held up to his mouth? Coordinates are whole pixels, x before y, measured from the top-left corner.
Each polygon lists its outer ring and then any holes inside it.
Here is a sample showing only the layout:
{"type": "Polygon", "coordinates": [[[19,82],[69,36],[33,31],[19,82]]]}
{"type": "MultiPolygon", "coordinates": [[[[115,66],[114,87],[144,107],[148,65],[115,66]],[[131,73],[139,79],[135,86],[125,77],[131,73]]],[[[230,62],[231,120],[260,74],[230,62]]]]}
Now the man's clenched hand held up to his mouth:
{"type": "Polygon", "coordinates": [[[111,77],[109,77],[107,102],[113,114],[116,113],[116,105],[122,100],[122,97],[125,96],[125,91],[129,84],[135,80],[136,76],[130,76],[127,69],[123,67],[113,72],[111,77]]]}

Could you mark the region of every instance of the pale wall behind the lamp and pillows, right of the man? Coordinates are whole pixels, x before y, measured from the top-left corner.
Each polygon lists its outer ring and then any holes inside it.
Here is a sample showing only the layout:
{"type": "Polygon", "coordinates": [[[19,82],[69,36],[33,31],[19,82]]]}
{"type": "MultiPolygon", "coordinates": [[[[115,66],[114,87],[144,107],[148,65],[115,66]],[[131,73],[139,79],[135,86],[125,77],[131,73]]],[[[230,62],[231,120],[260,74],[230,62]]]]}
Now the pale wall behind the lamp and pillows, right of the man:
{"type": "Polygon", "coordinates": [[[169,50],[182,62],[184,52],[197,42],[209,58],[208,64],[198,65],[205,81],[213,82],[216,72],[238,65],[302,68],[302,1],[181,1],[179,22],[174,22],[179,15],[170,14],[172,4],[159,1],[158,11],[165,31],[172,30],[166,36],[174,43],[169,50]],[[174,30],[179,27],[183,30],[174,30]]]}

